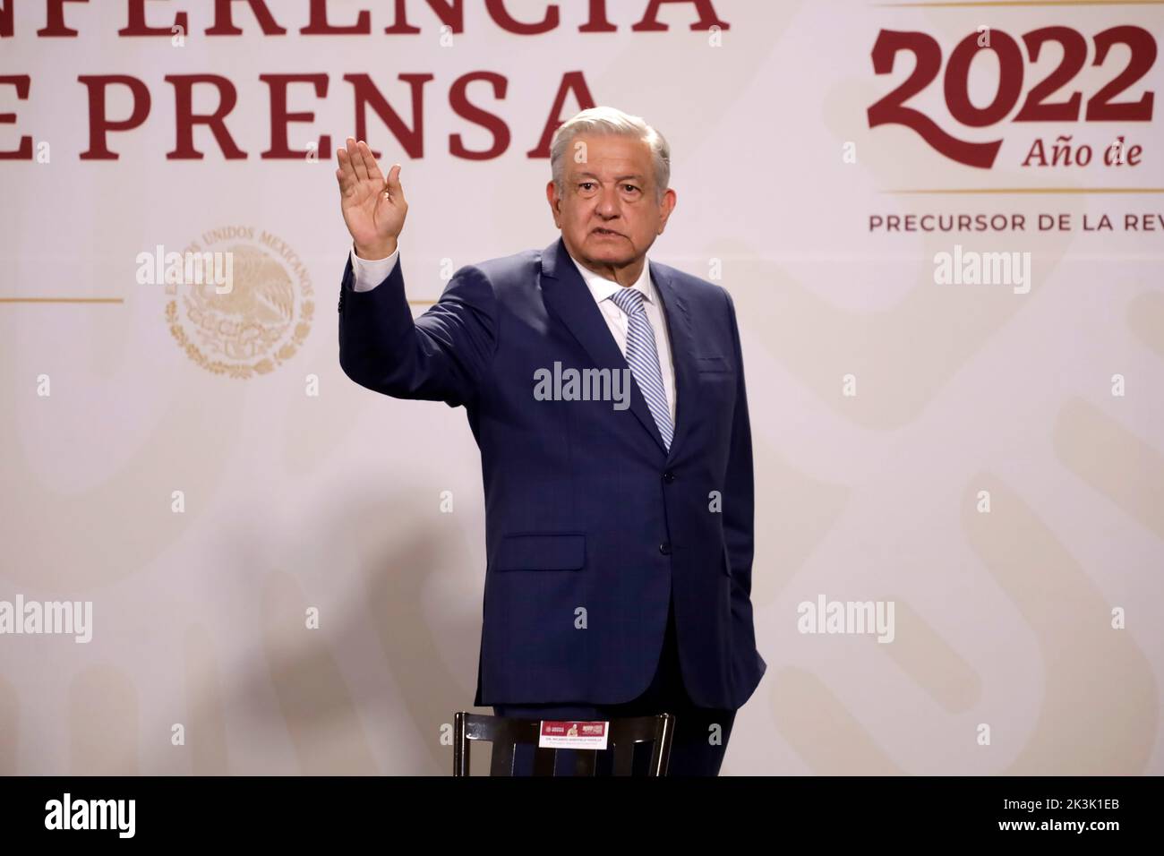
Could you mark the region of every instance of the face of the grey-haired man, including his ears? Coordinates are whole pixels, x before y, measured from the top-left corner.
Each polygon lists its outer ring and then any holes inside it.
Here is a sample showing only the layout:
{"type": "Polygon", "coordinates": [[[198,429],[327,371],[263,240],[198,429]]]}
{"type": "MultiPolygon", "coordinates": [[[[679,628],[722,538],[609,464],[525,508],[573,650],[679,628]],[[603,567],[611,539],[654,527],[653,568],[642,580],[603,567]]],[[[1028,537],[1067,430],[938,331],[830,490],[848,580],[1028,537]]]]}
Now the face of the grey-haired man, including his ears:
{"type": "Polygon", "coordinates": [[[565,160],[563,194],[549,182],[546,198],[570,255],[599,270],[639,262],[675,207],[673,190],[655,200],[651,147],[631,136],[579,134],[565,160]]]}

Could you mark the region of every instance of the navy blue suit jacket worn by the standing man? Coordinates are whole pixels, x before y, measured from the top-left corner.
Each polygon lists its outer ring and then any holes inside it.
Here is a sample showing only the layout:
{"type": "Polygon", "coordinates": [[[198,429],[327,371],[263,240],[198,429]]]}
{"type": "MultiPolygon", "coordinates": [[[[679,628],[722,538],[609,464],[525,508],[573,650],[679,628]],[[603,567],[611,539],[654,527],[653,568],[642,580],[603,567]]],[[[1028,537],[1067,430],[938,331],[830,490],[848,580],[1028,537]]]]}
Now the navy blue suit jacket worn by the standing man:
{"type": "Polygon", "coordinates": [[[752,623],[752,437],[723,288],[650,262],[675,366],[668,452],[638,384],[539,401],[538,369],[625,369],[559,238],[460,268],[416,320],[400,260],[340,289],[340,365],[397,398],[463,405],[481,450],[485,583],[474,703],[630,701],[654,675],[674,588],[696,705],[738,708],[767,664],[752,623]],[[717,501],[718,497],[718,501],[717,501]],[[584,610],[584,611],[583,611],[584,610]]]}

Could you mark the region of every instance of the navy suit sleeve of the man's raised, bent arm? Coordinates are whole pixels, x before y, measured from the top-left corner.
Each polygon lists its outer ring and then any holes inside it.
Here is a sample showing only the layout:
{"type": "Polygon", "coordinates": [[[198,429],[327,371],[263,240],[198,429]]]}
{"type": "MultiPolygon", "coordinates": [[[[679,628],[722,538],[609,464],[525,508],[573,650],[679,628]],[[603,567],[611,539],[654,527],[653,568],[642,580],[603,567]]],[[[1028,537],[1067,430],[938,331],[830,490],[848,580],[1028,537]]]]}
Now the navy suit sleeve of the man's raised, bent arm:
{"type": "Polygon", "coordinates": [[[395,398],[467,404],[497,351],[497,302],[484,271],[457,270],[440,299],[413,320],[403,261],[383,282],[354,289],[350,256],[340,284],[340,367],[361,387],[395,398]]]}

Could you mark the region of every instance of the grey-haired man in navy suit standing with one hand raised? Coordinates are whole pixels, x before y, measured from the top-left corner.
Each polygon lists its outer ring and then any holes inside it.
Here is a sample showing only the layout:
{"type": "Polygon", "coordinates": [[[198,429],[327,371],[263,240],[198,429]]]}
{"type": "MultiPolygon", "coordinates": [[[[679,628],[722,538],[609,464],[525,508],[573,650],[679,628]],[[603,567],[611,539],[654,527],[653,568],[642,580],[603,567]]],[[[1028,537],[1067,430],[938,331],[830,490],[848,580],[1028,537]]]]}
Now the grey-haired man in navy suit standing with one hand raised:
{"type": "Polygon", "coordinates": [[[734,304],[646,257],[676,198],[658,132],[595,107],[551,153],[561,238],[460,268],[413,319],[400,165],[385,177],[350,137],[336,150],[353,238],[340,365],[377,392],[466,408],[485,493],[474,703],[542,720],[667,710],[669,774],[716,776],[767,667],[734,304]]]}

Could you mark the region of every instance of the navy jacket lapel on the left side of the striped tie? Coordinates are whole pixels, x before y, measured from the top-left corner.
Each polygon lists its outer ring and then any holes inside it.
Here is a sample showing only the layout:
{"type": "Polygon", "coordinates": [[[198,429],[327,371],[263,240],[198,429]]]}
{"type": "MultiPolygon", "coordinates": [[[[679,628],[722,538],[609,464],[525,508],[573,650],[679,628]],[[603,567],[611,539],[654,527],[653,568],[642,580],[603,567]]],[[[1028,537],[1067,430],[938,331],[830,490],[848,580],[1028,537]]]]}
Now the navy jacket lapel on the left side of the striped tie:
{"type": "MultiPolygon", "coordinates": [[[[655,269],[652,268],[651,273],[654,275],[655,269]]],[[[603,318],[598,304],[594,302],[590,289],[587,288],[585,281],[574,266],[574,261],[566,250],[566,242],[561,238],[541,252],[541,274],[546,306],[577,339],[587,354],[590,355],[595,367],[630,369],[626,358],[618,349],[618,342],[610,334],[606,319],[603,318]]],[[[674,339],[672,341],[674,342],[674,339]]],[[[659,450],[666,452],[662,437],[659,434],[659,426],[655,425],[654,417],[651,415],[651,409],[647,406],[646,398],[643,397],[637,381],[631,383],[630,410],[659,444],[659,450]]],[[[672,448],[675,448],[674,439],[672,448]]]]}

